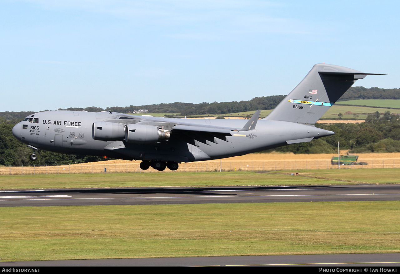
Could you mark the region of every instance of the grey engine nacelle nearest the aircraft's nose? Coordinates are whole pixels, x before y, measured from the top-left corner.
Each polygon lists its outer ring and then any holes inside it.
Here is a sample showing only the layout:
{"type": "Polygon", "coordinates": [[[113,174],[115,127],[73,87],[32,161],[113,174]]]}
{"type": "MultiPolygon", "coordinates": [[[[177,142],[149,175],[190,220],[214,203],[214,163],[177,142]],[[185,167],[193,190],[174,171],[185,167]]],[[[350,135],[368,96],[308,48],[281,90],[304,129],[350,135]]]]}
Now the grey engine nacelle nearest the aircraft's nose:
{"type": "Polygon", "coordinates": [[[100,141],[122,141],[125,139],[125,125],[110,122],[94,122],[92,138],[100,141]]]}

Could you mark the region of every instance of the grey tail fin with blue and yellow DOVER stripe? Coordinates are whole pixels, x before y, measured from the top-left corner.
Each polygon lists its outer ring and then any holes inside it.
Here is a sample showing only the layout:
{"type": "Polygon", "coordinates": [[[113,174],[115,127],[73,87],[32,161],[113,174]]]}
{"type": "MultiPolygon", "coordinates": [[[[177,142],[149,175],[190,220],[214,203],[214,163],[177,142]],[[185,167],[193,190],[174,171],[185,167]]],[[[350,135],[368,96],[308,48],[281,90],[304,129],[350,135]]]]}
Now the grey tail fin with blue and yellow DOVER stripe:
{"type": "Polygon", "coordinates": [[[356,80],[368,74],[375,73],[316,64],[264,119],[315,124],[356,80]]]}

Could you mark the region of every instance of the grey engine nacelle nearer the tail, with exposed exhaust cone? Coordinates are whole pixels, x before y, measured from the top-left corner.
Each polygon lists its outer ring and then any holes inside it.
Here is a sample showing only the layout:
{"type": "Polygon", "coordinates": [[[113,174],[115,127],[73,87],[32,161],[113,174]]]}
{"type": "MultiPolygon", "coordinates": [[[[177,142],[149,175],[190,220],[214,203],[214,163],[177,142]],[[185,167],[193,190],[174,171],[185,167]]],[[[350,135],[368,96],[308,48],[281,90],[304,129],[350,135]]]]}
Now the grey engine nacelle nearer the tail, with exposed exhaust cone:
{"type": "Polygon", "coordinates": [[[149,144],[170,138],[170,132],[153,125],[130,124],[126,127],[125,141],[127,143],[149,144]]]}

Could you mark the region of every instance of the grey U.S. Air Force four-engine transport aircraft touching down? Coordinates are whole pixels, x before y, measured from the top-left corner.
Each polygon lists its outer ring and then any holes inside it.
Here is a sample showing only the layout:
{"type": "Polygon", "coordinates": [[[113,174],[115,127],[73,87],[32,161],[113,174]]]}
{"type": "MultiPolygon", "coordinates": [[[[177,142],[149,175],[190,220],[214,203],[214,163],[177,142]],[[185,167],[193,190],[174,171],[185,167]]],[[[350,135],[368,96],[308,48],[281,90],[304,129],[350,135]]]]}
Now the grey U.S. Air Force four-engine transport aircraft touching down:
{"type": "MultiPolygon", "coordinates": [[[[35,151],[140,160],[141,169],[178,169],[178,163],[244,155],[334,134],[314,124],[358,79],[368,74],[316,64],[264,119],[176,119],[113,111],[43,111],[12,134],[35,151]]],[[[30,155],[36,160],[36,154],[30,155]]]]}

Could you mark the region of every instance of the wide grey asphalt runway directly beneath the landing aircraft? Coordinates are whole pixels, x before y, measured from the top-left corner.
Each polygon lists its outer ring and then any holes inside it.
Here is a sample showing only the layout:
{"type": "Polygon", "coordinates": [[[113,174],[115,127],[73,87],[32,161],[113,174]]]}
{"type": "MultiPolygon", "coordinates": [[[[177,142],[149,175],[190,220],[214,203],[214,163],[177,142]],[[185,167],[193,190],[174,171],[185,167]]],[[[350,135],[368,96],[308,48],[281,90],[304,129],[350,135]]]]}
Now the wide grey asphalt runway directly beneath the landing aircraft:
{"type": "Polygon", "coordinates": [[[0,206],[397,201],[399,199],[400,185],[27,189],[0,191],[0,206]]]}

